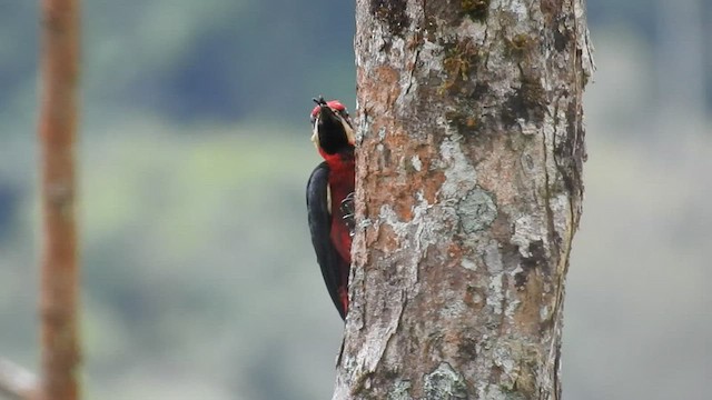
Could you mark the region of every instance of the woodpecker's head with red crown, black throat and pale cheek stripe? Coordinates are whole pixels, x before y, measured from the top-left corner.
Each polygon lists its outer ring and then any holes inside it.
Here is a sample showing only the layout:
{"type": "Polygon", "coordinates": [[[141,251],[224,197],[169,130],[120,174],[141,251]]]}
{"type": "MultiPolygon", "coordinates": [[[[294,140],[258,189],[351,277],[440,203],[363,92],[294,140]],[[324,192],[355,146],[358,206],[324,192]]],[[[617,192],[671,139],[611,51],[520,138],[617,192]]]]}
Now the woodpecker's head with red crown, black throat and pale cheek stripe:
{"type": "Polygon", "coordinates": [[[326,101],[319,96],[312,110],[312,141],[319,152],[336,154],[354,147],[354,127],[346,107],[338,100],[326,101]]]}

